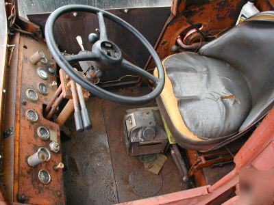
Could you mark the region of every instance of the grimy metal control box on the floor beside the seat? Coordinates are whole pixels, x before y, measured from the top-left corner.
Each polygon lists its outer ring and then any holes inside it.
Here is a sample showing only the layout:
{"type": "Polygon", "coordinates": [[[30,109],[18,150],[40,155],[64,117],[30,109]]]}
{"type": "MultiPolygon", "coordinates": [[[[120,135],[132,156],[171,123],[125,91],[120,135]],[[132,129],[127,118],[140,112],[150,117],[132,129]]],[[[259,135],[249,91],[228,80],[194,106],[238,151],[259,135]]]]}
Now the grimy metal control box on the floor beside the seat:
{"type": "Polygon", "coordinates": [[[125,111],[123,128],[127,154],[132,156],[161,153],[168,145],[158,107],[125,111]]]}

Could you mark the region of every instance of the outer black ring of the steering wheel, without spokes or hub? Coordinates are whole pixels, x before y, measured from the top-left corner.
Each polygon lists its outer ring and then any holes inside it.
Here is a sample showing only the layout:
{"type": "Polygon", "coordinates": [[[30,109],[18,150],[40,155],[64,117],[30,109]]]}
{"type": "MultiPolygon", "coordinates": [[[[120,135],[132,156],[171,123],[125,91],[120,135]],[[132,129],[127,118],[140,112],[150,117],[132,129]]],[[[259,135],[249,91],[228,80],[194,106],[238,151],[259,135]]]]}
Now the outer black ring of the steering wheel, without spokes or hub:
{"type": "Polygon", "coordinates": [[[105,100],[110,100],[119,104],[139,105],[157,98],[164,88],[164,68],[162,67],[162,63],[151,44],[147,41],[145,37],[142,36],[139,31],[132,27],[132,25],[129,25],[129,23],[125,22],[125,20],[119,18],[118,16],[115,16],[114,14],[111,14],[110,12],[106,12],[105,10],[101,10],[99,8],[94,8],[89,5],[65,5],[52,12],[47,19],[47,23],[45,25],[45,38],[47,41],[47,46],[49,47],[49,51],[57,64],[60,66],[60,68],[64,69],[66,74],[68,74],[71,79],[73,79],[73,81],[84,87],[91,94],[98,96],[99,98],[104,98],[105,100]],[[103,90],[103,88],[90,83],[90,81],[84,79],[80,74],[75,72],[73,67],[69,64],[69,61],[67,61],[66,58],[60,53],[53,36],[53,26],[55,24],[55,21],[60,16],[62,16],[62,14],[66,14],[69,12],[91,12],[93,14],[98,14],[99,12],[101,12],[105,18],[108,18],[115,23],[121,25],[122,27],[127,29],[127,31],[132,33],[132,35],[134,35],[138,40],[140,40],[140,42],[145,46],[147,51],[149,51],[151,57],[155,61],[155,65],[158,70],[158,81],[155,83],[154,90],[144,96],[121,96],[119,94],[114,94],[112,92],[108,92],[107,90],[103,90]]]}

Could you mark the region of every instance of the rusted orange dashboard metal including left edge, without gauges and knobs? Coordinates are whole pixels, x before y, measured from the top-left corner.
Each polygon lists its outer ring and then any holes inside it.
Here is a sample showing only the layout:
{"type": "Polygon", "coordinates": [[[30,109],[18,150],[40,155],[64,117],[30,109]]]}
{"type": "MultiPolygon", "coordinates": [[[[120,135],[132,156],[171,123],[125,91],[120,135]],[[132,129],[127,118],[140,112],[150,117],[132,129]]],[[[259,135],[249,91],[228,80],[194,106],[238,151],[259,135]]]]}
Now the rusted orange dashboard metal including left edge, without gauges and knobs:
{"type": "MultiPolygon", "coordinates": [[[[58,124],[46,120],[42,115],[42,105],[49,102],[51,96],[55,93],[55,86],[50,86],[52,81],[56,81],[53,74],[49,74],[47,81],[40,79],[36,69],[42,67],[47,69],[48,65],[38,63],[32,65],[28,58],[38,49],[42,50],[47,59],[51,59],[47,46],[42,41],[36,41],[27,36],[20,36],[16,34],[16,46],[18,46],[18,55],[14,55],[11,61],[14,73],[10,73],[11,82],[15,83],[16,92],[11,93],[11,97],[16,97],[12,105],[8,105],[11,110],[10,120],[14,120],[14,137],[8,136],[5,139],[6,160],[4,163],[5,183],[8,184],[7,195],[10,202],[24,202],[29,204],[55,204],[60,202],[64,204],[64,187],[62,172],[55,172],[53,166],[62,162],[60,153],[51,152],[51,159],[48,162],[37,165],[36,167],[29,167],[27,164],[27,157],[38,150],[39,147],[46,147],[49,149],[50,141],[42,141],[36,133],[39,126],[45,126],[49,130],[55,131],[58,135],[58,142],[60,143],[60,128],[58,124]],[[18,64],[17,64],[18,62],[18,64]],[[17,75],[17,77],[16,77],[17,75]],[[17,80],[16,80],[17,79],[17,80]],[[37,83],[45,83],[48,86],[49,93],[47,96],[40,94],[37,90],[37,83]],[[32,102],[27,100],[25,94],[28,88],[32,88],[38,94],[38,101],[32,102]],[[38,113],[38,122],[32,123],[25,117],[27,109],[34,109],[38,113]],[[14,114],[12,115],[12,110],[14,114]],[[47,169],[51,174],[51,182],[49,184],[42,184],[38,180],[38,172],[40,169],[47,169]],[[10,173],[14,173],[13,175],[10,173]],[[13,186],[12,186],[13,185],[13,186]]],[[[15,54],[17,51],[15,50],[15,54]]],[[[55,65],[53,66],[55,68],[55,65]]],[[[10,71],[12,71],[12,69],[10,71]]],[[[10,90],[12,92],[13,90],[10,90]]],[[[7,126],[10,126],[7,124],[7,126]]]]}

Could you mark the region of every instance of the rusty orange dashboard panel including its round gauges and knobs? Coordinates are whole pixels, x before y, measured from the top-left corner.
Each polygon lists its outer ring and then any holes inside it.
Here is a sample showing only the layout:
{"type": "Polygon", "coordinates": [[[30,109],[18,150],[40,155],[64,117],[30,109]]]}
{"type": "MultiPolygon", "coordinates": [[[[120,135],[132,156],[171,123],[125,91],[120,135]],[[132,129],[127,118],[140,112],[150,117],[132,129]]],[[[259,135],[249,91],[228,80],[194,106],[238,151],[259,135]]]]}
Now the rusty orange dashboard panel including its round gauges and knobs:
{"type": "Polygon", "coordinates": [[[3,129],[7,195],[11,202],[64,204],[60,127],[42,113],[58,89],[56,64],[42,40],[15,33],[11,43],[3,129]]]}

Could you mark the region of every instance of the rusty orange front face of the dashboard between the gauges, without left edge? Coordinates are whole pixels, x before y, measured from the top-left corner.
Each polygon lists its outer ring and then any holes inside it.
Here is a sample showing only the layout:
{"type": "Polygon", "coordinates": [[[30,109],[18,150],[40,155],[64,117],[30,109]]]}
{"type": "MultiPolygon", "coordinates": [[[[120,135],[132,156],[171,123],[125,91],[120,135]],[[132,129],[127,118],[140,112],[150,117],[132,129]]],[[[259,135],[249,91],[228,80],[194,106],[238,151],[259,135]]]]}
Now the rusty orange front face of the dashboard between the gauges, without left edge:
{"type": "MultiPolygon", "coordinates": [[[[56,131],[58,133],[58,142],[60,143],[60,128],[58,124],[46,120],[42,115],[42,105],[47,104],[51,99],[51,96],[57,89],[56,85],[53,85],[53,81],[56,81],[56,77],[49,73],[47,80],[40,79],[37,74],[37,68],[44,68],[47,70],[49,66],[55,69],[55,64],[49,65],[49,61],[52,61],[51,55],[47,49],[45,42],[37,41],[27,36],[20,37],[19,53],[23,59],[21,68],[22,76],[18,79],[17,85],[17,98],[16,102],[18,108],[16,109],[16,141],[18,146],[15,147],[14,164],[18,165],[16,172],[14,172],[14,181],[18,185],[14,186],[14,202],[25,202],[29,204],[56,204],[60,202],[64,204],[64,187],[63,187],[63,174],[62,172],[55,172],[53,170],[54,165],[62,162],[62,156],[59,153],[51,152],[51,159],[48,162],[44,162],[36,167],[29,167],[27,164],[27,157],[37,152],[39,147],[45,147],[49,149],[50,141],[42,141],[37,134],[38,126],[45,126],[49,130],[56,131]],[[23,45],[25,48],[23,48],[23,45]],[[37,50],[41,50],[46,54],[48,64],[33,65],[29,62],[29,57],[37,50]],[[44,96],[38,92],[37,84],[45,83],[47,85],[49,93],[44,96]],[[32,88],[38,94],[38,101],[32,102],[27,100],[25,94],[28,88],[32,88]],[[21,102],[25,102],[22,104],[21,102]],[[34,109],[38,114],[38,122],[32,123],[25,118],[25,111],[27,109],[34,109]],[[47,169],[51,174],[51,182],[49,184],[42,184],[38,179],[38,172],[40,169],[47,169]],[[57,193],[61,193],[58,196],[57,193]]],[[[20,57],[19,57],[20,59],[20,57]]]]}

